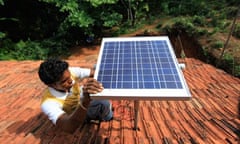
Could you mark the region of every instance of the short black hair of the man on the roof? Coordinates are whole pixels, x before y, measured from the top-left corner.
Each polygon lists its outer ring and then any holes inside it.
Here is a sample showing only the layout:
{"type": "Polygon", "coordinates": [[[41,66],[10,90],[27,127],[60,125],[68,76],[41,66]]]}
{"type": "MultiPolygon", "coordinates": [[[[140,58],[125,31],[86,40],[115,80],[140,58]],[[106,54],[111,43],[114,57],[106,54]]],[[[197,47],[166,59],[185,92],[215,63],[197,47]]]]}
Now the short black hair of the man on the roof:
{"type": "Polygon", "coordinates": [[[40,64],[38,76],[46,85],[54,84],[61,79],[68,66],[69,64],[66,61],[49,58],[40,64]]]}

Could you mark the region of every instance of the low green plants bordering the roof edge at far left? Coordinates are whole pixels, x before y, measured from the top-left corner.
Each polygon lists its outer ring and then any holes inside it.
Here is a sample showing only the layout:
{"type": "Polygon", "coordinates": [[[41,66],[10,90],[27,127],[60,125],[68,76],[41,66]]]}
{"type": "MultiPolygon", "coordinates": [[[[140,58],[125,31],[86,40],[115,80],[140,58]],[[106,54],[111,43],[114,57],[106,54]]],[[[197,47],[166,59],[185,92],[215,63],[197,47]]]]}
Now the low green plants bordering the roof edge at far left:
{"type": "Polygon", "coordinates": [[[0,49],[0,60],[38,60],[64,54],[66,54],[66,49],[61,42],[44,40],[40,43],[31,40],[20,40],[14,43],[9,39],[4,39],[0,49]]]}

